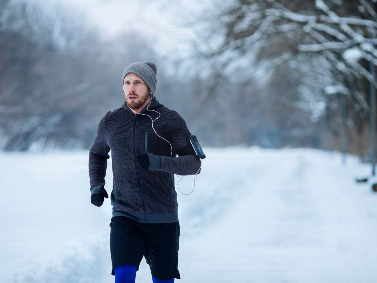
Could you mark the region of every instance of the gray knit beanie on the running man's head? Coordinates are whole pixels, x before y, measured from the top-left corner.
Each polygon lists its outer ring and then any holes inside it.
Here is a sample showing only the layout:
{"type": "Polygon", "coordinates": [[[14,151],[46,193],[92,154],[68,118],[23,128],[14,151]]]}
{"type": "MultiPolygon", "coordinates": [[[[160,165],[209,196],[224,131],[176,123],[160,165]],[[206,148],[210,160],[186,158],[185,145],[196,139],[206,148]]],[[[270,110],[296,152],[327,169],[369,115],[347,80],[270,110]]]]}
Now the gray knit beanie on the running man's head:
{"type": "Polygon", "coordinates": [[[141,77],[143,81],[149,86],[150,90],[152,91],[152,94],[155,93],[157,85],[157,66],[155,63],[136,62],[129,65],[123,72],[122,88],[124,77],[126,77],[128,73],[134,73],[141,77]]]}

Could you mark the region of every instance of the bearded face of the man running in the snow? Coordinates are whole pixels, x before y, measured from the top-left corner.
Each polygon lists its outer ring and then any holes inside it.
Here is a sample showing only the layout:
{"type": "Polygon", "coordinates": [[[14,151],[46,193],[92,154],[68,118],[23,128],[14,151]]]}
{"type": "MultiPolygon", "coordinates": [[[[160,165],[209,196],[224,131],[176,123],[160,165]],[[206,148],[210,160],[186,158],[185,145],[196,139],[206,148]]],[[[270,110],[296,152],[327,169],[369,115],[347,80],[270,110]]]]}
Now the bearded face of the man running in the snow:
{"type": "Polygon", "coordinates": [[[123,80],[123,93],[127,106],[133,110],[142,110],[150,102],[150,91],[141,77],[128,73],[123,80]]]}

